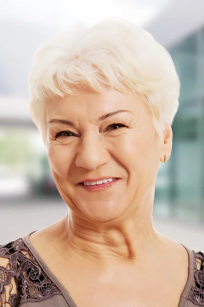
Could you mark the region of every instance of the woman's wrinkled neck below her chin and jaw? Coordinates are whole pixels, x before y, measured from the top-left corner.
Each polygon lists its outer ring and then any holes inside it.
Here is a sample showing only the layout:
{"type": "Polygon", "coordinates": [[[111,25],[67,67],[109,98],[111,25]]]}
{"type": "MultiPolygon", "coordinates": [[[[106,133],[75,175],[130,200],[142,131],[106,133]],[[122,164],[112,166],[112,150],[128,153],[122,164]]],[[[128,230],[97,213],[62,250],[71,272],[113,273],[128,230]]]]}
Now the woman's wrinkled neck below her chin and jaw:
{"type": "Polygon", "coordinates": [[[144,260],[154,251],[165,250],[163,236],[152,225],[151,210],[145,208],[148,215],[140,211],[144,209],[139,208],[123,221],[116,219],[103,223],[82,220],[73,212],[67,214],[58,234],[64,257],[101,263],[112,260],[135,262],[144,260]]]}

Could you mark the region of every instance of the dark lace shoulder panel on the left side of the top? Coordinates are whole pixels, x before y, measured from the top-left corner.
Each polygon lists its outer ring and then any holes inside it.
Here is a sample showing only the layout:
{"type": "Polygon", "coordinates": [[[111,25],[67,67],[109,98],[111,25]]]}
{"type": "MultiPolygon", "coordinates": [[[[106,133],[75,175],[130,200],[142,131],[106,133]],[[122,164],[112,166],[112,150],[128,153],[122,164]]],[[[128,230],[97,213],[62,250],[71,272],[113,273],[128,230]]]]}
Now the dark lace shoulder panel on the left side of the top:
{"type": "Polygon", "coordinates": [[[62,295],[43,272],[22,238],[0,245],[0,257],[9,260],[6,267],[0,266],[0,306],[5,307],[9,303],[12,307],[18,307],[24,302],[38,302],[56,294],[62,295]],[[11,294],[13,278],[17,294],[11,294]]]}

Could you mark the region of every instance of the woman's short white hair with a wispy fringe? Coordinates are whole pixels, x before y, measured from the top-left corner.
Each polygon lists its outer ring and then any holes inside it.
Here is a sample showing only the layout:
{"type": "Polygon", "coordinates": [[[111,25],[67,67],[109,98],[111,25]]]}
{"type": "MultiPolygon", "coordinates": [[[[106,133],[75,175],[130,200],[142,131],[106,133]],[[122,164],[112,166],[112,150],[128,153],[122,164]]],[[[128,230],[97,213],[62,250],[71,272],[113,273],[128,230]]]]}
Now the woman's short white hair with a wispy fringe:
{"type": "Polygon", "coordinates": [[[45,102],[112,87],[142,95],[160,134],[179,107],[180,81],[171,56],[148,32],[127,20],[75,24],[41,45],[29,76],[30,113],[45,144],[45,102]]]}

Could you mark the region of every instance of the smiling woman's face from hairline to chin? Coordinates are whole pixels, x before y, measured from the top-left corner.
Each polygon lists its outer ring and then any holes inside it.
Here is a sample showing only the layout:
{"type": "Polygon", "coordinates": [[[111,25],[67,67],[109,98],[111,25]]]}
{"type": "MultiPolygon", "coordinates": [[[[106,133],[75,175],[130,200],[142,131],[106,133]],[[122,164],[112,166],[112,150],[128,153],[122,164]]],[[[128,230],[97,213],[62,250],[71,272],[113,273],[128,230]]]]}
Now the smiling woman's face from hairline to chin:
{"type": "Polygon", "coordinates": [[[46,104],[48,161],[57,188],[84,220],[110,221],[152,201],[163,154],[145,101],[113,89],[46,104]],[[85,186],[92,179],[117,178],[85,186]]]}

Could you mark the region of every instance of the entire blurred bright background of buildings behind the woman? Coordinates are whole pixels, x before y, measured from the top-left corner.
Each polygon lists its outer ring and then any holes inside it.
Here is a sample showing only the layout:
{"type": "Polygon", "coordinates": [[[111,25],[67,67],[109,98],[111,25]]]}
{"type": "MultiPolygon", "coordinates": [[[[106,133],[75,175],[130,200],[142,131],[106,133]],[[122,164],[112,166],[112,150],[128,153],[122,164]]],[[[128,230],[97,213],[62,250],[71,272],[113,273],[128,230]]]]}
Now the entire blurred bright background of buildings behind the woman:
{"type": "Polygon", "coordinates": [[[157,230],[204,250],[204,1],[0,1],[0,244],[45,227],[67,211],[29,115],[28,75],[37,47],[75,21],[115,16],[149,31],[181,80],[170,160],[160,166],[157,230]]]}

